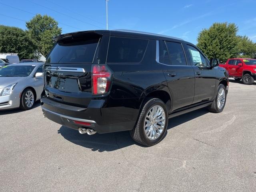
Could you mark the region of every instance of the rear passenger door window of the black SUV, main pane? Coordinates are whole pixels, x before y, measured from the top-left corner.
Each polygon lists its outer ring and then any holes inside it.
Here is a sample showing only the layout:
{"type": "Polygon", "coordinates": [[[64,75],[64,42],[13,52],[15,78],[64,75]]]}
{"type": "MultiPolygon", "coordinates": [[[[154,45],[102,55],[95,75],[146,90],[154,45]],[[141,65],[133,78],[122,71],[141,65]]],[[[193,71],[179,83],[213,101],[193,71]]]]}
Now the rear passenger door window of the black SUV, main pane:
{"type": "Polygon", "coordinates": [[[170,54],[171,65],[187,65],[186,57],[181,43],[166,41],[170,54]]]}

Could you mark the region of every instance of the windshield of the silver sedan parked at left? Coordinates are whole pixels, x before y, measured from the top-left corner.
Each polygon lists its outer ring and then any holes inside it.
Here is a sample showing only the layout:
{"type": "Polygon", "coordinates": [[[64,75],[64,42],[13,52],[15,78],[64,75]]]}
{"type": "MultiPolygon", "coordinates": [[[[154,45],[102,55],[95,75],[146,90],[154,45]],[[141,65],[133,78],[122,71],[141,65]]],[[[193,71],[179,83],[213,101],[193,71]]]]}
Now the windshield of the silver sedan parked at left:
{"type": "Polygon", "coordinates": [[[31,74],[35,66],[8,65],[0,68],[0,77],[26,77],[31,74]]]}

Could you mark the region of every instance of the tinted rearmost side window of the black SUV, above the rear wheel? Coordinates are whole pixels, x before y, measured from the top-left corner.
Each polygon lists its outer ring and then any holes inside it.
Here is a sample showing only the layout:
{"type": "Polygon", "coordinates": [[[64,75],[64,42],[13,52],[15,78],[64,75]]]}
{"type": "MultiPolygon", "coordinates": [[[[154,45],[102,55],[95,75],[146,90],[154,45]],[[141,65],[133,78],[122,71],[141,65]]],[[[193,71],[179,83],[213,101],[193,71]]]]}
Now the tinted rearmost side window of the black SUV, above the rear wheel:
{"type": "Polygon", "coordinates": [[[108,63],[141,62],[148,45],[147,39],[110,37],[108,63]]]}

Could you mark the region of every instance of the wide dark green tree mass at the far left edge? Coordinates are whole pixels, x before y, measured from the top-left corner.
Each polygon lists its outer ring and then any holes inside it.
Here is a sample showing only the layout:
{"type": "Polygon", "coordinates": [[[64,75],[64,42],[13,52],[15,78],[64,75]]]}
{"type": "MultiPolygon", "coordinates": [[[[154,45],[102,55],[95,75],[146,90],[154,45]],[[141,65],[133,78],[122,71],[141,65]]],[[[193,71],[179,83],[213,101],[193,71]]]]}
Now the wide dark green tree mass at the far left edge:
{"type": "Polygon", "coordinates": [[[37,59],[35,50],[36,45],[24,30],[0,25],[1,53],[18,53],[20,59],[37,59]]]}

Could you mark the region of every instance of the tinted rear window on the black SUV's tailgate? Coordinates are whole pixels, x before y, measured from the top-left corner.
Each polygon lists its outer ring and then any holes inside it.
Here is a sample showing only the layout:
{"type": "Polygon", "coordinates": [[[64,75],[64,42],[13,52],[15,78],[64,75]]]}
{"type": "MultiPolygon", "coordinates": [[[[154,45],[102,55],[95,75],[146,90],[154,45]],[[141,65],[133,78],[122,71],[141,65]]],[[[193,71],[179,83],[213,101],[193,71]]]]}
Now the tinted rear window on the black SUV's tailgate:
{"type": "Polygon", "coordinates": [[[46,63],[92,63],[99,38],[56,43],[46,63]]]}

